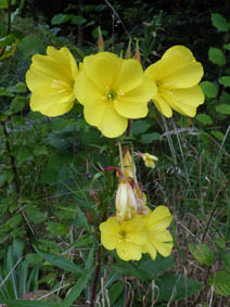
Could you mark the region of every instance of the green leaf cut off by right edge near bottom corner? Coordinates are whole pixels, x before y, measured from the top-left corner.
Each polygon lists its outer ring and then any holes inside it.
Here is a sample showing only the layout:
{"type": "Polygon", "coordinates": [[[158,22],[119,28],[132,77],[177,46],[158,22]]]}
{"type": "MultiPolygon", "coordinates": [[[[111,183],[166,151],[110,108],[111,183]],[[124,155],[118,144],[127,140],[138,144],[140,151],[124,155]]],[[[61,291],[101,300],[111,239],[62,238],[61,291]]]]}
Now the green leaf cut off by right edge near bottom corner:
{"type": "Polygon", "coordinates": [[[217,271],[208,279],[209,285],[214,285],[214,292],[218,295],[230,296],[230,278],[228,271],[217,271]]]}

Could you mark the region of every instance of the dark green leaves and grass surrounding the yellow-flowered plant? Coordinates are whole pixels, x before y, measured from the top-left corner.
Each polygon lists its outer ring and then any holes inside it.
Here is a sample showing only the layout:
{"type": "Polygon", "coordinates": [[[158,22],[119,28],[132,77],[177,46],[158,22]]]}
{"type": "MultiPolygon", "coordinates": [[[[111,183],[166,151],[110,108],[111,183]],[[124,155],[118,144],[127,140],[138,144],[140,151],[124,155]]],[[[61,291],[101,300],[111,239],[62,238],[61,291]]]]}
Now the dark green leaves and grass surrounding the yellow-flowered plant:
{"type": "Polygon", "coordinates": [[[8,10],[0,0],[0,304],[229,306],[228,1],[11,2],[8,10]],[[117,187],[101,166],[114,156],[118,164],[115,141],[86,124],[79,104],[52,119],[29,110],[31,55],[67,46],[79,62],[97,52],[98,26],[107,51],[125,53],[130,38],[135,51],[138,39],[144,67],[174,44],[204,66],[206,100],[195,118],[165,119],[151,103],[131,127],[135,151],[158,157],[153,170],[137,167],[150,207],[165,204],[174,215],[168,258],[125,263],[100,250],[101,208],[113,210],[117,187]]]}

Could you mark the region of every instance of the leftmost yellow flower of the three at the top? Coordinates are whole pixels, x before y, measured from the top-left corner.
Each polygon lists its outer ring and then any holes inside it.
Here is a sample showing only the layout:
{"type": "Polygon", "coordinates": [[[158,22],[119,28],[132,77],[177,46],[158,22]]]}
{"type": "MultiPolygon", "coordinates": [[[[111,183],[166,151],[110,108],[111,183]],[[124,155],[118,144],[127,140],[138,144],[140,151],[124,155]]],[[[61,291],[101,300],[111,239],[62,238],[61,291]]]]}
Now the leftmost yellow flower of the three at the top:
{"type": "Polygon", "coordinates": [[[31,91],[30,107],[47,116],[68,112],[75,100],[74,84],[77,64],[66,47],[47,48],[47,55],[35,54],[26,73],[26,84],[31,91]]]}

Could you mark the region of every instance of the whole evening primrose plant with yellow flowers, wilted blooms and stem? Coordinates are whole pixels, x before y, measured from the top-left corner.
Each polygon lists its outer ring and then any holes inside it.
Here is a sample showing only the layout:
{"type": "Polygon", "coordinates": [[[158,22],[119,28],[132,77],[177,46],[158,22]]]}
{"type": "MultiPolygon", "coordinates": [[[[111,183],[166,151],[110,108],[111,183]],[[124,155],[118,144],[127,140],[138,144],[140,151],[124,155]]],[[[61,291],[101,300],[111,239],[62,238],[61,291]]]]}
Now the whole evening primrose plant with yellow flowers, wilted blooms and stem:
{"type": "MultiPolygon", "coordinates": [[[[158,158],[152,153],[135,152],[129,140],[132,121],[148,116],[151,101],[166,117],[173,116],[173,110],[193,117],[204,102],[199,86],[202,65],[183,46],[169,48],[145,71],[139,48],[135,59],[123,59],[104,51],[103,41],[99,39],[98,50],[97,54],[86,55],[81,63],[76,63],[66,47],[60,50],[48,47],[47,55],[33,56],[26,74],[33,111],[55,117],[71,111],[75,102],[79,103],[86,123],[103,137],[113,139],[110,166],[99,165],[100,172],[106,178],[106,189],[97,203],[94,234],[101,244],[92,302],[103,260],[118,257],[131,261],[150,257],[155,261],[157,255],[170,256],[174,247],[168,229],[173,215],[164,204],[153,208],[148,203],[135,163],[135,158],[142,158],[146,167],[154,169],[158,158]],[[108,252],[103,252],[101,246],[108,252]]],[[[87,216],[88,219],[92,223],[87,216]]]]}

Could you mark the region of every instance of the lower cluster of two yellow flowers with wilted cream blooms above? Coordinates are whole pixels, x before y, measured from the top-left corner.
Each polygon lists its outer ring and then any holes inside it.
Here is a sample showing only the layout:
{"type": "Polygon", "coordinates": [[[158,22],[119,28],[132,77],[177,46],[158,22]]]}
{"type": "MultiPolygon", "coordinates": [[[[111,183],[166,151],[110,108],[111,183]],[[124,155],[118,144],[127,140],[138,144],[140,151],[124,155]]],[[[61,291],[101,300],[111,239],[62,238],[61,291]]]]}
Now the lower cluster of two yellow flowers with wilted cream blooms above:
{"type": "Polygon", "coordinates": [[[115,200],[116,216],[100,225],[102,245],[110,251],[116,250],[119,258],[127,261],[139,260],[145,253],[152,259],[155,259],[156,252],[167,257],[173,248],[173,238],[167,230],[173,217],[165,206],[153,212],[146,206],[145,194],[133,181],[136,167],[129,151],[123,163],[130,176],[120,176],[115,200]]]}

